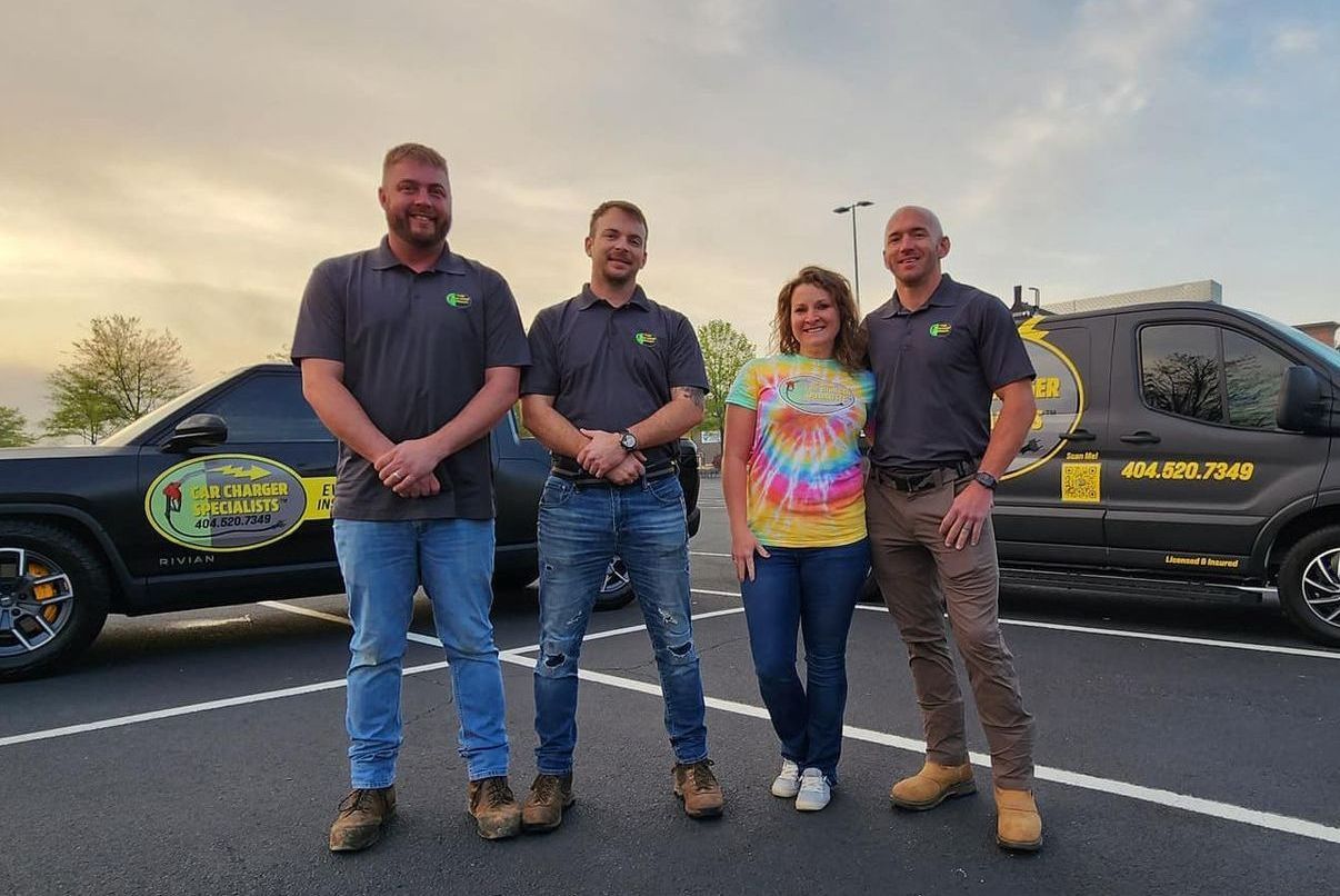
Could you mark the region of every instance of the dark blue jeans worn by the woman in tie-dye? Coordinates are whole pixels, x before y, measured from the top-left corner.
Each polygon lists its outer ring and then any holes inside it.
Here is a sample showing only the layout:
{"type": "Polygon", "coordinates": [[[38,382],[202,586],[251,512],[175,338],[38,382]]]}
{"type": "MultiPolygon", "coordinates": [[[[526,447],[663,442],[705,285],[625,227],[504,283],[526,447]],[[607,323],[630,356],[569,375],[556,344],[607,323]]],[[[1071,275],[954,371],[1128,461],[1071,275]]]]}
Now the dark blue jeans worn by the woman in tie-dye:
{"type": "Polygon", "coordinates": [[[758,692],[781,755],[838,781],[847,708],[847,632],[870,569],[870,542],[768,547],[754,581],[740,583],[758,692]],[[805,685],[796,675],[796,629],[805,638],[805,685]]]}

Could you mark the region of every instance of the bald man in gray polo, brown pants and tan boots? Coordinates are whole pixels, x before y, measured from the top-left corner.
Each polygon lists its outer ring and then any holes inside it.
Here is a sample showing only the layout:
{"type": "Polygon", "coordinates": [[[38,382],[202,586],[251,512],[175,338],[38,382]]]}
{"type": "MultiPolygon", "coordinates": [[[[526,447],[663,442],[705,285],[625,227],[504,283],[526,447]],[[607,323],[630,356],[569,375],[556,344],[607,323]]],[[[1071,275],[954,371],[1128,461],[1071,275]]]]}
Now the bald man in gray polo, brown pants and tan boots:
{"type": "Polygon", "coordinates": [[[926,762],[890,794],[931,809],[972,793],[963,699],[945,637],[967,665],[996,782],[997,842],[1037,849],[1033,719],[1001,637],[992,531],[996,480],[1033,423],[1033,365],[1005,304],[941,272],[949,237],[909,205],[884,229],[896,290],[866,317],[875,372],[872,476],[866,487],[871,557],[898,622],[926,728],[926,762]],[[1001,398],[994,429],[992,394],[1001,398]]]}

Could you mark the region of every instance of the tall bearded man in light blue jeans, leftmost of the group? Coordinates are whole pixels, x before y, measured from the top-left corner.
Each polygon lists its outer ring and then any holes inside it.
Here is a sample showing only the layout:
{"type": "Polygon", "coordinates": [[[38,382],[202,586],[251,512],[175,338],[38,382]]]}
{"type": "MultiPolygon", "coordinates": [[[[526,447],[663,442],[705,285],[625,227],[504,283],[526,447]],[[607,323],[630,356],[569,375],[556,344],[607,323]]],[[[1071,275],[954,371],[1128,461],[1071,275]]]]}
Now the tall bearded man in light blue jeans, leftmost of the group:
{"type": "Polygon", "coordinates": [[[452,252],[446,161],[419,144],[386,154],[377,190],[389,233],[316,266],[293,362],[339,439],[335,551],[354,626],[350,777],[334,852],[364,849],[395,811],[401,671],[422,585],[450,661],[469,813],[511,837],[503,673],[493,642],[493,478],[488,435],[516,401],[531,353],[507,282],[452,252]]]}

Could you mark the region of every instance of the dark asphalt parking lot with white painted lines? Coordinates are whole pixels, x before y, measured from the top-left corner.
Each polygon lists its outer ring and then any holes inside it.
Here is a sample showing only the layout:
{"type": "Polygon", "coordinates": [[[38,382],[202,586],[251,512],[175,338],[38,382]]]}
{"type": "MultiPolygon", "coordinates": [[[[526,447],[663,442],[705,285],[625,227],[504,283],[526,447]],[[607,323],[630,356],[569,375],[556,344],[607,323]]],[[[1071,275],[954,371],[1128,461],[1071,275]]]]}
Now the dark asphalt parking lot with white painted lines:
{"type": "MultiPolygon", "coordinates": [[[[406,656],[399,814],[332,856],[346,790],[339,596],[114,618],[86,659],[0,688],[0,881],[39,893],[1277,893],[1340,887],[1340,651],[1273,606],[1006,594],[1037,718],[1047,845],[996,848],[981,789],[930,813],[888,806],[921,762],[887,613],[848,649],[842,785],[821,813],[768,793],[777,750],[754,685],[725,511],[704,483],[697,642],[726,789],[718,821],[670,793],[655,665],[635,606],[583,652],[578,803],[552,834],[484,842],[465,813],[449,672],[421,601],[406,656]]],[[[497,597],[513,787],[533,774],[535,593],[497,597]]],[[[966,688],[966,683],[965,683],[966,688]]]]}

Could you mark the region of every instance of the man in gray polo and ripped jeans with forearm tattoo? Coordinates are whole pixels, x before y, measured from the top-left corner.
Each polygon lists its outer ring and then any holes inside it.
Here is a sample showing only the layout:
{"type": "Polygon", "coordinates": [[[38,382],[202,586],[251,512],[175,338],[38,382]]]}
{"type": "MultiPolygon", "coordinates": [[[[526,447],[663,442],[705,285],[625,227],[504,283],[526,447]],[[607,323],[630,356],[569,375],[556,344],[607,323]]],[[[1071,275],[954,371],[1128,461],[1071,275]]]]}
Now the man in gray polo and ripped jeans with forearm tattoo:
{"type": "Polygon", "coordinates": [[[675,475],[678,440],[708,390],[689,321],[647,298],[647,219],[602,203],[586,239],[591,282],[531,325],[525,424],[553,453],[540,498],[540,656],[535,664],[539,774],[523,810],[552,830],[572,805],[578,659],[606,569],[623,558],[661,672],[673,786],[694,817],[720,816],[693,642],[689,543],[675,475]]]}

